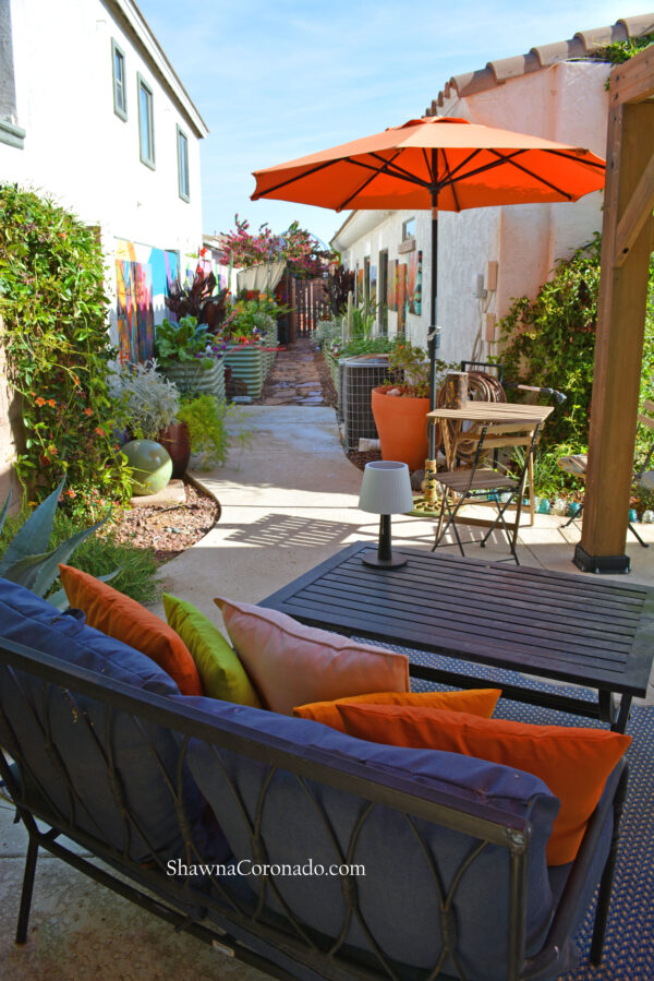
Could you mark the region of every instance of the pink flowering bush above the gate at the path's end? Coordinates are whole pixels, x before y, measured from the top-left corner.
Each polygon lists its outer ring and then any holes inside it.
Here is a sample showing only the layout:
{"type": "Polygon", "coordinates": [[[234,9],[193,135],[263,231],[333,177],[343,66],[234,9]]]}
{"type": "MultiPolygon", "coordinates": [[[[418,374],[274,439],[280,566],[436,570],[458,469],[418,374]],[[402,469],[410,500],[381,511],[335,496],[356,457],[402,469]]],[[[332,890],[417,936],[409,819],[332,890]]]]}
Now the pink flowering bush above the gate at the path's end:
{"type": "Polygon", "coordinates": [[[336,258],[332,252],[325,251],[310,231],[300,228],[298,222],[280,235],[270,231],[267,223],[253,235],[250,223],[239,220],[238,215],[234,224],[235,229],[222,236],[222,252],[218,261],[223,265],[229,265],[230,258],[241,268],[284,260],[294,276],[311,279],[324,276],[336,258]]]}

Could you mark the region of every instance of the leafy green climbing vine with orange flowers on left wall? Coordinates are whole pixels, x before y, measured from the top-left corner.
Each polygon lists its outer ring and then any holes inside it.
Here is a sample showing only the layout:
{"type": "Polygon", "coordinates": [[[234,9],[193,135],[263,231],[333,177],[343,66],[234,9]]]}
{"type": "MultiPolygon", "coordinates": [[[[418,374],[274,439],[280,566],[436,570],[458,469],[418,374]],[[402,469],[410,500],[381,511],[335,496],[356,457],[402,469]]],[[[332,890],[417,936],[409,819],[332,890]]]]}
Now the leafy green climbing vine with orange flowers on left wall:
{"type": "Polygon", "coordinates": [[[130,497],[108,379],[105,268],[96,231],[47,198],[0,183],[0,344],[21,399],[16,474],[29,501],[66,477],[71,511],[130,497]]]}

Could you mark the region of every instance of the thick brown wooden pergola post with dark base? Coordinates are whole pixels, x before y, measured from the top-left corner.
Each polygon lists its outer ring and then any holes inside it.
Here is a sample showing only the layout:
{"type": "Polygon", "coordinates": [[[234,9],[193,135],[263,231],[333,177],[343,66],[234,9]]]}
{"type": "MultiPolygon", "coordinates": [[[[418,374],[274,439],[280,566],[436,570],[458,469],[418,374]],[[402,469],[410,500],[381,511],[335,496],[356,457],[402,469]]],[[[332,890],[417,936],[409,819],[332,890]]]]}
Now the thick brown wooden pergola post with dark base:
{"type": "Polygon", "coordinates": [[[654,48],[610,74],[606,190],[581,542],[584,572],[629,572],[625,553],[654,208],[654,48]]]}

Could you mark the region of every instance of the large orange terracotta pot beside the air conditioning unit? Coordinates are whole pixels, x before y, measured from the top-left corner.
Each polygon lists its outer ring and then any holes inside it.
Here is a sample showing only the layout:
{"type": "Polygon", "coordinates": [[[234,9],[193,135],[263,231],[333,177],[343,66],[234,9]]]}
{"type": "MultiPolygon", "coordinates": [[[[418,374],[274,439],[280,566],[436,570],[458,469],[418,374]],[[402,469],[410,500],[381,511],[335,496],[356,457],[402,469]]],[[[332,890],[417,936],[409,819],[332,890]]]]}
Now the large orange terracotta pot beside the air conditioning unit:
{"type": "Polygon", "coordinates": [[[427,457],[428,398],[387,395],[399,385],[379,385],[371,393],[373,416],[382,445],[382,459],[397,459],[421,470],[427,457]]]}

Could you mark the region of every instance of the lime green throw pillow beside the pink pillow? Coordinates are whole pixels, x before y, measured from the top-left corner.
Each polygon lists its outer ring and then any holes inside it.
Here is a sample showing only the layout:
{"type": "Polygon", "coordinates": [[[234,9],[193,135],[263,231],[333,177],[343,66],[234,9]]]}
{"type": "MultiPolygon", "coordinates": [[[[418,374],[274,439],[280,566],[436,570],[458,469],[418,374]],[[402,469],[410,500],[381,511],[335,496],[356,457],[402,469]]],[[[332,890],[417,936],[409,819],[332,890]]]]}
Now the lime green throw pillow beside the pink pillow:
{"type": "Polygon", "coordinates": [[[218,627],[190,602],[167,593],[164,609],[169,625],[191,651],[207,695],[262,708],[243,665],[218,627]]]}

